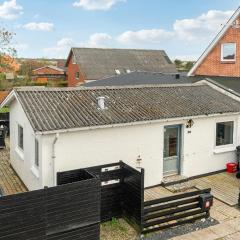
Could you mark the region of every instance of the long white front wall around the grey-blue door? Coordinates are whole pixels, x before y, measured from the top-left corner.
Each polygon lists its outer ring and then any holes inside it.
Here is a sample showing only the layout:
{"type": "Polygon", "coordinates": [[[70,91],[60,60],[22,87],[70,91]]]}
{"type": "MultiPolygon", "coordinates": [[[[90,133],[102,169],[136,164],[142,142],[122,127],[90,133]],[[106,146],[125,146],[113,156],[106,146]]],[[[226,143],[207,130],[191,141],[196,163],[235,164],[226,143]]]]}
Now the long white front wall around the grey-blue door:
{"type": "Polygon", "coordinates": [[[142,159],[141,167],[145,168],[145,187],[157,185],[163,178],[163,140],[166,125],[182,125],[182,175],[190,177],[222,170],[225,169],[226,163],[236,161],[235,148],[240,144],[239,116],[193,120],[194,125],[191,129],[185,128],[184,120],[61,133],[56,142],[54,161],[52,143],[55,135],[44,135],[42,185],[53,185],[53,171],[57,173],[119,160],[136,167],[138,156],[142,159]],[[234,144],[216,148],[216,123],[224,121],[235,123],[234,144]]]}

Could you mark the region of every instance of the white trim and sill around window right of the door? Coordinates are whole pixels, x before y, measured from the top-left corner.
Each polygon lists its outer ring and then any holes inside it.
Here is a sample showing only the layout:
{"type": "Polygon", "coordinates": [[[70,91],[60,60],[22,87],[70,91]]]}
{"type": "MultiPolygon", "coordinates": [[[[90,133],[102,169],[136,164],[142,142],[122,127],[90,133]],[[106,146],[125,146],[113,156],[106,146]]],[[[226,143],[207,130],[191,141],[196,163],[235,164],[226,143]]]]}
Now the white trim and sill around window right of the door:
{"type": "Polygon", "coordinates": [[[218,154],[218,153],[224,153],[224,152],[233,152],[236,150],[236,143],[237,143],[237,122],[235,119],[222,119],[215,121],[215,126],[214,126],[214,149],[213,152],[218,154]],[[216,138],[217,138],[217,123],[222,123],[222,122],[233,122],[233,143],[232,144],[226,144],[226,145],[221,145],[217,146],[216,145],[216,138]]]}

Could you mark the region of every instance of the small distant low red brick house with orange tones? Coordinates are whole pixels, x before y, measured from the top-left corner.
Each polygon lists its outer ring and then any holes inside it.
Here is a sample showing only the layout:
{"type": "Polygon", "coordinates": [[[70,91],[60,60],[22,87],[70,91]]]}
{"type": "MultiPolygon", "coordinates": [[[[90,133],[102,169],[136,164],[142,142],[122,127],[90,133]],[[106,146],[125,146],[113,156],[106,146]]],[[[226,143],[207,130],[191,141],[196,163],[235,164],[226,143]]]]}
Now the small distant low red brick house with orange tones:
{"type": "Polygon", "coordinates": [[[56,66],[44,66],[33,70],[32,78],[37,83],[65,80],[66,71],[56,66]]]}

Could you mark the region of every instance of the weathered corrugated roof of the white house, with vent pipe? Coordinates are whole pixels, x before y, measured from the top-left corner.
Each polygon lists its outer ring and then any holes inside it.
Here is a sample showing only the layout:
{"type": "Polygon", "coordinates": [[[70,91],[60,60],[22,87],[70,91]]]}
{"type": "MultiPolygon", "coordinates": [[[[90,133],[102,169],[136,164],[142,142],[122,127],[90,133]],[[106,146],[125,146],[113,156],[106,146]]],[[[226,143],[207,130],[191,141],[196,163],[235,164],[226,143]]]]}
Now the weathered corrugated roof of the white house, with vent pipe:
{"type": "Polygon", "coordinates": [[[238,101],[206,84],[15,89],[34,131],[240,112],[238,101]],[[105,110],[97,98],[106,97],[105,110]]]}

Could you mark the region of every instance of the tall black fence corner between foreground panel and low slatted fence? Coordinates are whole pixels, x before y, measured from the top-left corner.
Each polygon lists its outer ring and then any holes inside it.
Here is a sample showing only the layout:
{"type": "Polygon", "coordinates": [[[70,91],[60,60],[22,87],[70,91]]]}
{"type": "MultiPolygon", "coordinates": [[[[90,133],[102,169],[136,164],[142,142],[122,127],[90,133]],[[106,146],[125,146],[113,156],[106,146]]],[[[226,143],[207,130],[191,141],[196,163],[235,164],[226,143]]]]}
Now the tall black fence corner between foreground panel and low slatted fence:
{"type": "MultiPolygon", "coordinates": [[[[101,222],[124,217],[140,228],[144,201],[144,170],[140,172],[123,162],[85,169],[101,181],[101,222]]],[[[60,172],[57,183],[78,181],[82,169],[60,172]]],[[[139,229],[138,229],[139,230],[139,229]]]]}

